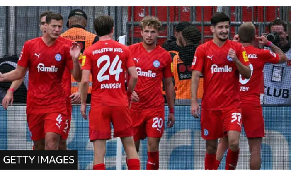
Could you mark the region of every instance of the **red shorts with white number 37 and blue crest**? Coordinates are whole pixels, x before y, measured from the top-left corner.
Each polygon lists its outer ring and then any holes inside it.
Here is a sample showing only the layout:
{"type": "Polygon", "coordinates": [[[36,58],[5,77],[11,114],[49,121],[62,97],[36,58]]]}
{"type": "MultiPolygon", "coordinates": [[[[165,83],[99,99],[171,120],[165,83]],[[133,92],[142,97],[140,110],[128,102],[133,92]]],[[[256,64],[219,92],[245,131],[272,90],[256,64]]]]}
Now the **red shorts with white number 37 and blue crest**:
{"type": "Polygon", "coordinates": [[[210,111],[201,110],[201,136],[205,140],[214,140],[227,135],[227,131],[242,130],[241,108],[210,111]]]}

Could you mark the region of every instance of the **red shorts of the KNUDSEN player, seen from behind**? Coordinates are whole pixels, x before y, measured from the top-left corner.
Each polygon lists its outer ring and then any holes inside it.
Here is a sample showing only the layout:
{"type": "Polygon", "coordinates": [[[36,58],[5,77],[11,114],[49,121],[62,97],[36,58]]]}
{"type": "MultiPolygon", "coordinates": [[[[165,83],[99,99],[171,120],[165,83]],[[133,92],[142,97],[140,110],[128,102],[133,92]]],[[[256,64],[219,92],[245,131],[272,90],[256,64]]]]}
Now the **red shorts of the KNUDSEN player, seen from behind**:
{"type": "Polygon", "coordinates": [[[110,123],[114,128],[113,137],[133,136],[128,106],[99,106],[89,112],[90,141],[111,139],[110,123]]]}

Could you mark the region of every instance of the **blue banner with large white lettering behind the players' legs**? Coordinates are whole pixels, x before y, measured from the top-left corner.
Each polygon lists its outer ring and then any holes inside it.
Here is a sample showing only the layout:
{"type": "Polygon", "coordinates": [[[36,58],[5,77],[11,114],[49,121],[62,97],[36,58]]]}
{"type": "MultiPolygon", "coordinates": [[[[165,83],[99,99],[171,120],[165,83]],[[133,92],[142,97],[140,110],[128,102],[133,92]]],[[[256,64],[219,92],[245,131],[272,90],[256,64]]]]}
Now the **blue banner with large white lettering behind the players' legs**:
{"type": "MultiPolygon", "coordinates": [[[[25,106],[0,108],[0,150],[31,150],[32,141],[26,123],[25,106]]],[[[89,112],[89,107],[87,107],[89,112]]],[[[165,108],[165,124],[168,109],[165,108]]],[[[291,107],[263,107],[266,137],[262,142],[262,169],[291,169],[291,107]]],[[[165,128],[160,144],[160,169],[204,169],[205,141],[201,138],[200,120],[190,114],[189,106],[175,107],[176,123],[165,128]]],[[[89,141],[88,120],[80,107],[74,106],[69,138],[69,150],[78,150],[78,169],[92,169],[93,145],[89,141]]],[[[106,169],[116,169],[116,138],[107,143],[106,169]]],[[[237,169],[249,168],[249,148],[244,131],[240,141],[237,169]]],[[[141,169],[146,169],[147,144],[141,142],[139,157],[141,169]]],[[[225,167],[225,157],[220,169],[225,167]]],[[[125,153],[122,169],[127,169],[125,153]]]]}

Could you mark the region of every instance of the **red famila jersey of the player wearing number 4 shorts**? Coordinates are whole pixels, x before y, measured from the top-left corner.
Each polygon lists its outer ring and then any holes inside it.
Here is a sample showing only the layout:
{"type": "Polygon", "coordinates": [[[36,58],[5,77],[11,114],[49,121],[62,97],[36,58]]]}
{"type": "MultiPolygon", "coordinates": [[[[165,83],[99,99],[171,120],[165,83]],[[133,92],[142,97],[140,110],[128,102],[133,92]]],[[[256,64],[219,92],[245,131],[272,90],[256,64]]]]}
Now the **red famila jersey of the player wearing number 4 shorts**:
{"type": "Polygon", "coordinates": [[[29,68],[28,106],[65,106],[61,82],[65,67],[73,69],[69,51],[59,40],[50,47],[41,37],[24,43],[17,64],[29,68]]]}

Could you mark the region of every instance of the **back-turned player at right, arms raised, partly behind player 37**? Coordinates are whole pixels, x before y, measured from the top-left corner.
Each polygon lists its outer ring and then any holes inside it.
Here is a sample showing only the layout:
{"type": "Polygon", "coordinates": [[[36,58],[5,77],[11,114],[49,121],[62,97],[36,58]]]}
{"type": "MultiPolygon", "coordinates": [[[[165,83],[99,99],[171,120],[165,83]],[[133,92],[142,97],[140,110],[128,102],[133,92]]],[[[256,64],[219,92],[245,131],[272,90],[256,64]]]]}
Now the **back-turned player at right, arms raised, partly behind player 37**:
{"type": "MultiPolygon", "coordinates": [[[[240,75],[240,95],[242,108],[242,124],[250,148],[250,169],[260,169],[261,142],[265,137],[264,119],[260,104],[259,85],[266,63],[278,64],[287,61],[284,52],[273,45],[265,36],[256,37],[256,28],[251,22],[243,23],[234,40],[240,41],[245,48],[251,68],[250,79],[244,79],[240,75]],[[270,47],[272,51],[255,48],[255,41],[263,46],[270,47]]],[[[218,144],[216,153],[216,169],[228,147],[228,139],[222,138],[218,144]]],[[[228,154],[227,154],[228,155],[228,154]]]]}

